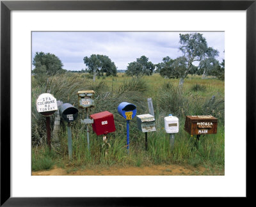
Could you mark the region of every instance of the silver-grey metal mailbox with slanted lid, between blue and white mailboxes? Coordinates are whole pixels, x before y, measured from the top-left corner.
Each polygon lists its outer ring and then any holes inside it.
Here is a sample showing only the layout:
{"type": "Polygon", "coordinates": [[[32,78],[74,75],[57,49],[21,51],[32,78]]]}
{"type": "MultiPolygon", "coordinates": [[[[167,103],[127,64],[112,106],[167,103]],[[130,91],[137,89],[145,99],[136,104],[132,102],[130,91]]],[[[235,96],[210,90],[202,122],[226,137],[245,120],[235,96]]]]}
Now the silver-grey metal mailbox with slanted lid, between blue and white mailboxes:
{"type": "Polygon", "coordinates": [[[156,123],[155,118],[151,114],[141,114],[137,116],[138,129],[141,132],[155,132],[156,123]]]}

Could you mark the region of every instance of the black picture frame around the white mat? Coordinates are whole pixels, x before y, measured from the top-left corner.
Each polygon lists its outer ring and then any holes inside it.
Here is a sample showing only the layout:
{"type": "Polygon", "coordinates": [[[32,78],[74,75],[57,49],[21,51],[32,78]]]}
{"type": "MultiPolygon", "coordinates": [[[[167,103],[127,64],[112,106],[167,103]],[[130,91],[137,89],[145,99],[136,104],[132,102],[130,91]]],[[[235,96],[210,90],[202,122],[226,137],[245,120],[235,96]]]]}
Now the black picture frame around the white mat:
{"type": "MultiPolygon", "coordinates": [[[[256,0],[253,1],[1,1],[1,206],[147,206],[169,198],[10,197],[10,12],[12,10],[246,10],[246,197],[255,164],[256,0]],[[253,160],[253,162],[252,162],[253,160]]],[[[235,100],[234,100],[235,101],[235,100]]],[[[251,189],[251,190],[250,190],[251,189]]]]}

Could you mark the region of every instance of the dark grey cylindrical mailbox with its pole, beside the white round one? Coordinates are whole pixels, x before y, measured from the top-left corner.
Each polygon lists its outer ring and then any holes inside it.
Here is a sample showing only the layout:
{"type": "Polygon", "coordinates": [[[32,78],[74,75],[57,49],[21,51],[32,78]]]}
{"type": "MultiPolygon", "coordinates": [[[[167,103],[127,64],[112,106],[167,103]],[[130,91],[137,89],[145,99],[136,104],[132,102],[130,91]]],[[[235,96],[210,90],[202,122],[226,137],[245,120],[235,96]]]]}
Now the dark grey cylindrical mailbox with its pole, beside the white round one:
{"type": "Polygon", "coordinates": [[[71,132],[71,123],[77,119],[78,110],[72,104],[65,103],[60,105],[60,116],[67,121],[68,129],[68,158],[72,159],[72,132],[71,132]]]}

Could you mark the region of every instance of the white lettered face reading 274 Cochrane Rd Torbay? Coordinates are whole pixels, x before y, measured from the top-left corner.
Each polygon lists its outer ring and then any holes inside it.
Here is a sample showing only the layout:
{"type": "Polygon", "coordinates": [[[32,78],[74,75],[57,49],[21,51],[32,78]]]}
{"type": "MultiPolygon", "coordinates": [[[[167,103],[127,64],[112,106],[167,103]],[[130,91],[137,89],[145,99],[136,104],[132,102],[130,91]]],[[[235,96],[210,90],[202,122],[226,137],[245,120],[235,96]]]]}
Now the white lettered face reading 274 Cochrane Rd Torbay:
{"type": "Polygon", "coordinates": [[[57,111],[57,100],[50,93],[42,93],[36,100],[38,112],[57,111]]]}

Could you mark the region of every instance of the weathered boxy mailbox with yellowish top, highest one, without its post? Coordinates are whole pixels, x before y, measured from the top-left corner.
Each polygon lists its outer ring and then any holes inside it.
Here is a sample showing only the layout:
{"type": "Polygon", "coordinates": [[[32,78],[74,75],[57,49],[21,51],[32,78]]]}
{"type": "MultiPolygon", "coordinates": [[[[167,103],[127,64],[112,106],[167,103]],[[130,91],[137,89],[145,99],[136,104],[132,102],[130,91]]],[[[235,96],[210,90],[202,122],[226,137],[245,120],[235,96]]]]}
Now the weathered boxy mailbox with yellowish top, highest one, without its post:
{"type": "Polygon", "coordinates": [[[94,91],[78,91],[78,105],[81,108],[94,107],[94,91]]]}

